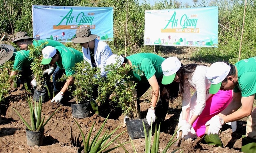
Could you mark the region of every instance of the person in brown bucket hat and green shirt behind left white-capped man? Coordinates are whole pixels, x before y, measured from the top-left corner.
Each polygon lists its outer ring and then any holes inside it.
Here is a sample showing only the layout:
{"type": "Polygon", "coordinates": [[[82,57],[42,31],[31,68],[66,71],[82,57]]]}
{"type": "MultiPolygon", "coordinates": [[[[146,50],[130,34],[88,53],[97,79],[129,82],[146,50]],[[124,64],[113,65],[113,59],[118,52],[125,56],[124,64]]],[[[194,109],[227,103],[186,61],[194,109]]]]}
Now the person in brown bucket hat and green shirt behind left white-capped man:
{"type": "Polygon", "coordinates": [[[13,43],[18,45],[20,49],[28,50],[28,45],[32,45],[34,47],[40,46],[42,43],[45,43],[42,48],[46,46],[65,46],[64,44],[56,41],[56,40],[50,40],[50,39],[44,39],[44,40],[34,40],[33,37],[29,37],[27,32],[21,31],[16,33],[16,38],[12,40],[13,43]]]}

